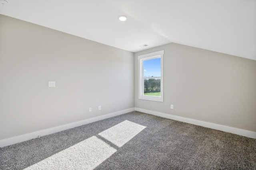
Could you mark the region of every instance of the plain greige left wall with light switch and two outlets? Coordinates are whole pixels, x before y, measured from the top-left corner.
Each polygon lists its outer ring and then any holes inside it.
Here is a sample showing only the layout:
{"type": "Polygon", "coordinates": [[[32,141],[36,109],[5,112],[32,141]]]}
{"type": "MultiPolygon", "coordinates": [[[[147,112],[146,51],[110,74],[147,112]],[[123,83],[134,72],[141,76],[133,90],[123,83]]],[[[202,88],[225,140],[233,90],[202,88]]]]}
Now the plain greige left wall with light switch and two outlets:
{"type": "Polygon", "coordinates": [[[134,53],[0,15],[0,140],[129,108],[134,53]]]}

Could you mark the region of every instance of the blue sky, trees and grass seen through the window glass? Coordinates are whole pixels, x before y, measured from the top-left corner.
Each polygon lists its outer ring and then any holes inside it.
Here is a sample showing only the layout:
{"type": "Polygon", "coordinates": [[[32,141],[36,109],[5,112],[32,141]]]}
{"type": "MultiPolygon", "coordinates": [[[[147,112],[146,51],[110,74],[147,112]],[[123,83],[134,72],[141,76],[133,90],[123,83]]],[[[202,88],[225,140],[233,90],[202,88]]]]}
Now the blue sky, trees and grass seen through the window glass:
{"type": "Polygon", "coordinates": [[[144,95],[161,96],[161,58],[143,61],[144,95]]]}

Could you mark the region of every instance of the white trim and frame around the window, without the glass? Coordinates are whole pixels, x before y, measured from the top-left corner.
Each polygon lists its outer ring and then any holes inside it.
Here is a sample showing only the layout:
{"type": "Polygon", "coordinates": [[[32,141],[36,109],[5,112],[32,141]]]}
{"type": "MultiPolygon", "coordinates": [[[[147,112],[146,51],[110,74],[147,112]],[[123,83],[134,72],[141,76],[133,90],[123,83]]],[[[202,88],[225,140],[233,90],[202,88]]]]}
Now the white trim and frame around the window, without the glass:
{"type": "MultiPolygon", "coordinates": [[[[138,56],[139,62],[139,99],[142,100],[152,100],[157,102],[164,102],[164,50],[156,51],[154,53],[144,54],[138,56]],[[160,88],[161,88],[161,96],[146,96],[144,95],[144,66],[143,61],[149,59],[157,59],[161,58],[161,80],[160,80],[160,88]]],[[[154,78],[154,77],[152,77],[154,78]]]]}

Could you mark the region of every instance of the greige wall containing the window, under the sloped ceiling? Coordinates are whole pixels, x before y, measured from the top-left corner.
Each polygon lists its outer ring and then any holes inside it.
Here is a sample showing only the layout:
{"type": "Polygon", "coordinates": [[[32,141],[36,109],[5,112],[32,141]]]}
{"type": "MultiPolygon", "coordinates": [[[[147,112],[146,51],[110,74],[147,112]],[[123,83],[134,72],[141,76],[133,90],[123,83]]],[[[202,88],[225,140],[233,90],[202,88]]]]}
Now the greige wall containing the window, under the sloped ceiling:
{"type": "Polygon", "coordinates": [[[170,43],[135,53],[134,62],[136,108],[256,132],[256,61],[170,43]],[[164,102],[139,100],[138,56],[160,50],[164,102]]]}

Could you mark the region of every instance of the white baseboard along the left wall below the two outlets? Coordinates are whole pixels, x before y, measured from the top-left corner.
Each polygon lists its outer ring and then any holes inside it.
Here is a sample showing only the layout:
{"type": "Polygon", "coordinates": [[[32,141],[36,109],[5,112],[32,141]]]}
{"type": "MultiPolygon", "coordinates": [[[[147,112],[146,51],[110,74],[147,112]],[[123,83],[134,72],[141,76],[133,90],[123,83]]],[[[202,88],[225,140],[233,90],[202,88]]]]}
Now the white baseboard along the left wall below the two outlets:
{"type": "Polygon", "coordinates": [[[128,113],[128,112],[131,112],[131,111],[134,111],[134,108],[125,109],[125,110],[121,110],[121,111],[117,111],[117,112],[114,112],[114,113],[109,113],[109,114],[101,115],[101,116],[97,116],[97,117],[92,117],[90,119],[85,119],[85,120],[82,120],[82,121],[68,123],[68,124],[65,124],[65,125],[52,127],[52,128],[49,128],[49,129],[44,129],[42,131],[36,131],[36,132],[28,133],[28,134],[25,134],[25,135],[20,135],[20,136],[17,136],[17,137],[3,139],[3,140],[0,141],[0,147],[6,147],[6,146],[9,146],[9,145],[13,145],[15,143],[28,141],[30,139],[37,138],[38,135],[40,137],[45,136],[45,135],[50,135],[52,133],[56,133],[56,132],[59,132],[59,131],[64,131],[66,129],[78,127],[78,126],[81,126],[81,125],[86,125],[88,123],[100,121],[100,120],[103,120],[103,119],[108,119],[110,117],[122,115],[124,113],[128,113]]]}

